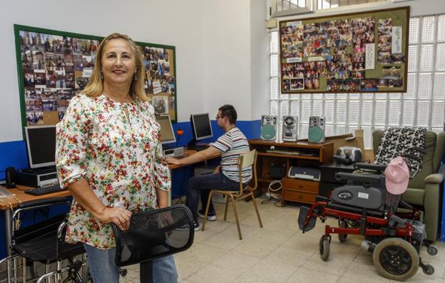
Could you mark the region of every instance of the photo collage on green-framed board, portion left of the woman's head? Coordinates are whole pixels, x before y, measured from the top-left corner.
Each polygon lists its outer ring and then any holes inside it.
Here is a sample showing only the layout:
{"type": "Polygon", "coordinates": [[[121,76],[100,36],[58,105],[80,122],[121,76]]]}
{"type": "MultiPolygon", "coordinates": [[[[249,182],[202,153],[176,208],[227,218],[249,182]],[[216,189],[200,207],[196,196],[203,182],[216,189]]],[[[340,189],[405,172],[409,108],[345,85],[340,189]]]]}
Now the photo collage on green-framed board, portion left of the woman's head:
{"type": "Polygon", "coordinates": [[[99,41],[19,32],[26,125],[58,123],[88,83],[99,41]]]}

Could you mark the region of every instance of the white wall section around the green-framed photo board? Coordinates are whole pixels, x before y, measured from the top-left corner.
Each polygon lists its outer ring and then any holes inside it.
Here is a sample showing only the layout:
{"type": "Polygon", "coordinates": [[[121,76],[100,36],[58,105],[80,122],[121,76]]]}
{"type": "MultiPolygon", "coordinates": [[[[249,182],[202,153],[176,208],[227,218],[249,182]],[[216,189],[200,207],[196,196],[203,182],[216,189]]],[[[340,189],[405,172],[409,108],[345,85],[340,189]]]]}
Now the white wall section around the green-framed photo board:
{"type": "Polygon", "coordinates": [[[13,24],[96,36],[118,31],[136,41],[176,46],[178,120],[202,112],[199,105],[190,103],[191,97],[199,100],[203,96],[199,87],[203,73],[203,46],[199,43],[202,1],[45,0],[8,1],[7,5],[1,1],[0,141],[22,137],[13,24]]]}

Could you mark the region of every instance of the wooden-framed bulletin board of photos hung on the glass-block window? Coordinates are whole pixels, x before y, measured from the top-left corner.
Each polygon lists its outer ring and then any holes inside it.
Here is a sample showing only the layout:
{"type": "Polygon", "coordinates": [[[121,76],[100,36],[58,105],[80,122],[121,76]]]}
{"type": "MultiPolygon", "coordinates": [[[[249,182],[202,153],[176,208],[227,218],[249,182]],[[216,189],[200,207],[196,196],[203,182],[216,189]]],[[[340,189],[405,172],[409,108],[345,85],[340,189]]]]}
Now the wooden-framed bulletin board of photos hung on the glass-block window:
{"type": "Polygon", "coordinates": [[[282,93],[406,92],[409,6],[280,21],[282,93]]]}

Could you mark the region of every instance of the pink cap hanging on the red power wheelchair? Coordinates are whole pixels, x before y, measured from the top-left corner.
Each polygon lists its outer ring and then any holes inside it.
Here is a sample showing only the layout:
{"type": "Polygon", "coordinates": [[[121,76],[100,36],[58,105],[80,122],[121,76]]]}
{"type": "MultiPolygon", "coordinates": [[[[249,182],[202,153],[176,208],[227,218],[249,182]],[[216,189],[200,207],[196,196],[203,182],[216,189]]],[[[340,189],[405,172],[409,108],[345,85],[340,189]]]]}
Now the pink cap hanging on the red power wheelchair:
{"type": "Polygon", "coordinates": [[[408,188],[409,169],[401,156],[394,158],[385,169],[387,191],[393,195],[401,195],[408,188]]]}

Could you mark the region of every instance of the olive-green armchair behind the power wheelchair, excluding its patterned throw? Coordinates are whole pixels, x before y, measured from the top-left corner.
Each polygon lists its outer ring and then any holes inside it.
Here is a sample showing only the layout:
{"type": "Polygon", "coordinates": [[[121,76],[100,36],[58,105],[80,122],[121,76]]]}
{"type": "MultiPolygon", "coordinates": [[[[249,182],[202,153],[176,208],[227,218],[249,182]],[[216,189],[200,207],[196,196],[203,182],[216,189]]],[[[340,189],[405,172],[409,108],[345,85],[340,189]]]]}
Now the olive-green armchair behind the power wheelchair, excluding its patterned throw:
{"type": "MultiPolygon", "coordinates": [[[[374,130],[372,145],[374,156],[377,154],[384,130],[374,130]]],[[[408,184],[402,200],[419,207],[424,212],[426,240],[435,241],[439,233],[441,218],[441,182],[444,174],[438,173],[445,150],[445,132],[426,131],[426,154],[422,160],[422,169],[408,184]]]]}

